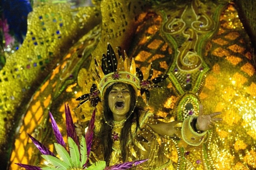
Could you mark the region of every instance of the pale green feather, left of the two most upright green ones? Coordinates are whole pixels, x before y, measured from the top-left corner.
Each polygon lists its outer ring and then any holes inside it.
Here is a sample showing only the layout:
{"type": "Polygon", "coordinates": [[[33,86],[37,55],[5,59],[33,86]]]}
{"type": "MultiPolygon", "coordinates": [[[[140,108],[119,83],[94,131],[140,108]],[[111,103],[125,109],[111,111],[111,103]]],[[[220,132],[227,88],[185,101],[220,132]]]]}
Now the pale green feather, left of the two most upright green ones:
{"type": "Polygon", "coordinates": [[[78,150],[78,146],[74,142],[74,140],[68,137],[68,147],[70,152],[70,158],[75,167],[78,167],[80,164],[80,154],[78,150]]]}

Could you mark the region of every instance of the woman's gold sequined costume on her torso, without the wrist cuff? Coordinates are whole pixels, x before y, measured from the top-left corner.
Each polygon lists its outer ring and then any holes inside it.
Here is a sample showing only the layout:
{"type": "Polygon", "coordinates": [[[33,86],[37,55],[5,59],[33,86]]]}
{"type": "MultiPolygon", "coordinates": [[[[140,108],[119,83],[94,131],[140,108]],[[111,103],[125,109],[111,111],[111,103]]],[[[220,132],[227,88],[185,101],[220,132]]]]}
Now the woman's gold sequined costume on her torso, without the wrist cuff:
{"type": "MultiPolygon", "coordinates": [[[[131,135],[128,137],[127,142],[127,162],[128,161],[137,161],[142,159],[149,159],[148,161],[136,166],[136,169],[168,169],[172,170],[173,165],[172,161],[167,158],[163,158],[161,161],[159,156],[159,142],[158,142],[158,134],[155,134],[154,131],[147,124],[156,124],[158,122],[155,116],[149,112],[142,112],[139,118],[139,128],[136,131],[136,122],[132,123],[131,127],[131,135]]],[[[92,152],[90,155],[90,159],[92,162],[103,160],[103,150],[101,144],[99,144],[100,136],[97,136],[100,128],[101,128],[101,117],[99,120],[95,120],[95,129],[94,129],[94,140],[92,145],[92,152]]],[[[120,134],[121,129],[124,124],[124,120],[120,122],[113,122],[112,129],[112,154],[110,158],[110,166],[118,163],[123,163],[122,154],[120,148],[120,134]]]]}

